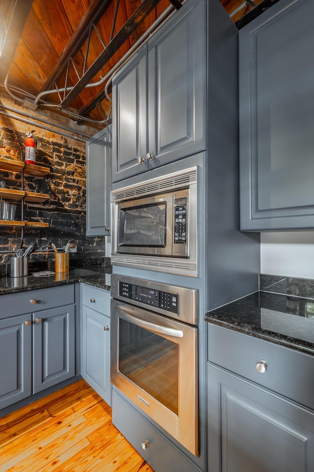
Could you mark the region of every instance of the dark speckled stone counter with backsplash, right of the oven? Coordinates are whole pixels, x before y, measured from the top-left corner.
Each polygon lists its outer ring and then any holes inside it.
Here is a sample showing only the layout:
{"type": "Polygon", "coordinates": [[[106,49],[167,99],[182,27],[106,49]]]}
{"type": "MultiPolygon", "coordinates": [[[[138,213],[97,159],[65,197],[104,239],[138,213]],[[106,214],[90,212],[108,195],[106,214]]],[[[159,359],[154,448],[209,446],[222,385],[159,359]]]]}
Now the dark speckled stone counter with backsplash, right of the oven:
{"type": "Polygon", "coordinates": [[[205,320],[314,355],[314,281],[261,274],[259,292],[210,311],[205,320]]]}

